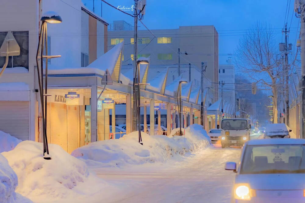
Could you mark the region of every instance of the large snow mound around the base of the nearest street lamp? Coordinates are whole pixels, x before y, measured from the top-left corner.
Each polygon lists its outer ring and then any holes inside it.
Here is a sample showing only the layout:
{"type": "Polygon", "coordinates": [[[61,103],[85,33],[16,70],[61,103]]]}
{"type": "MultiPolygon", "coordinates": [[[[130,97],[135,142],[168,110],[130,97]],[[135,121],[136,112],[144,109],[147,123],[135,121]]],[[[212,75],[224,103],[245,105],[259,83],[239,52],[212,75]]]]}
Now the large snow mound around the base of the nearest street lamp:
{"type": "Polygon", "coordinates": [[[94,188],[88,191],[92,185],[100,189],[103,181],[89,174],[83,161],[57,144],[48,146],[51,160],[43,159],[43,144],[33,141],[23,141],[14,150],[2,153],[18,176],[16,192],[41,202],[97,192],[94,188]]]}

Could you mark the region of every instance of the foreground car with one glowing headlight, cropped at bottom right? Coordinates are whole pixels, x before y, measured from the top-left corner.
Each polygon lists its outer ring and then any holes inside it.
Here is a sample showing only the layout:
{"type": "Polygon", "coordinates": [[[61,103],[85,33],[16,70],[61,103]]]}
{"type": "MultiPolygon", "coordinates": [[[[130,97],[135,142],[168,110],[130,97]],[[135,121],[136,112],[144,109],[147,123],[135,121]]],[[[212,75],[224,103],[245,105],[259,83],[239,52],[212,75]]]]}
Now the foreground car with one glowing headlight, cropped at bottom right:
{"type": "Polygon", "coordinates": [[[268,139],[247,141],[236,173],[231,202],[305,202],[305,140],[268,139]]]}

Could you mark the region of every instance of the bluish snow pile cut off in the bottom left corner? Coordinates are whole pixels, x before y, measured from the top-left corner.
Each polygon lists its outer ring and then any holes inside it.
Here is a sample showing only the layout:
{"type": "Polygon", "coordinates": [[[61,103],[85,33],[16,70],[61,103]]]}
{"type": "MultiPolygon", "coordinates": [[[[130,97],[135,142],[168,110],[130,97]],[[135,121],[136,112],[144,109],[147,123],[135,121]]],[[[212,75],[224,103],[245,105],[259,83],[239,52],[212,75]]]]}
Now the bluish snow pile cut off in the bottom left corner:
{"type": "Polygon", "coordinates": [[[15,188],[18,185],[16,173],[6,158],[0,154],[0,202],[15,202],[15,188]]]}

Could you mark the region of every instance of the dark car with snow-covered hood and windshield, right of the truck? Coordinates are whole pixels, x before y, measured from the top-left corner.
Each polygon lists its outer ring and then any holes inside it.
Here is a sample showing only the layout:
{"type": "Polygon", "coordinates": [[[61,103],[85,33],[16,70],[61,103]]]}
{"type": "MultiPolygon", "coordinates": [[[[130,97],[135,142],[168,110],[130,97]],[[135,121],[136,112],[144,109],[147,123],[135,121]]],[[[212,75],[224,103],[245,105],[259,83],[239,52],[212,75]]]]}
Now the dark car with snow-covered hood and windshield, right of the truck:
{"type": "Polygon", "coordinates": [[[291,129],[287,129],[284,123],[268,124],[266,126],[264,138],[290,138],[289,132],[291,131],[291,129]]]}

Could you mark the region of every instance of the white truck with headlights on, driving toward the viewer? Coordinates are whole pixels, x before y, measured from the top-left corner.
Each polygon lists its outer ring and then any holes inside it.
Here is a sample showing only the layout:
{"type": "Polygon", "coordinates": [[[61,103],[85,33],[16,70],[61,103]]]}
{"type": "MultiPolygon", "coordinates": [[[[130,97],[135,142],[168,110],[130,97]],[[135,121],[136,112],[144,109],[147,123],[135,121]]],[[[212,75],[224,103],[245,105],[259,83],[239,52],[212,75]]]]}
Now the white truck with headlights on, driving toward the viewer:
{"type": "MultiPolygon", "coordinates": [[[[219,125],[217,125],[219,129],[219,125]]],[[[250,140],[251,124],[247,119],[222,119],[221,121],[221,147],[232,145],[242,146],[250,140]]]]}

